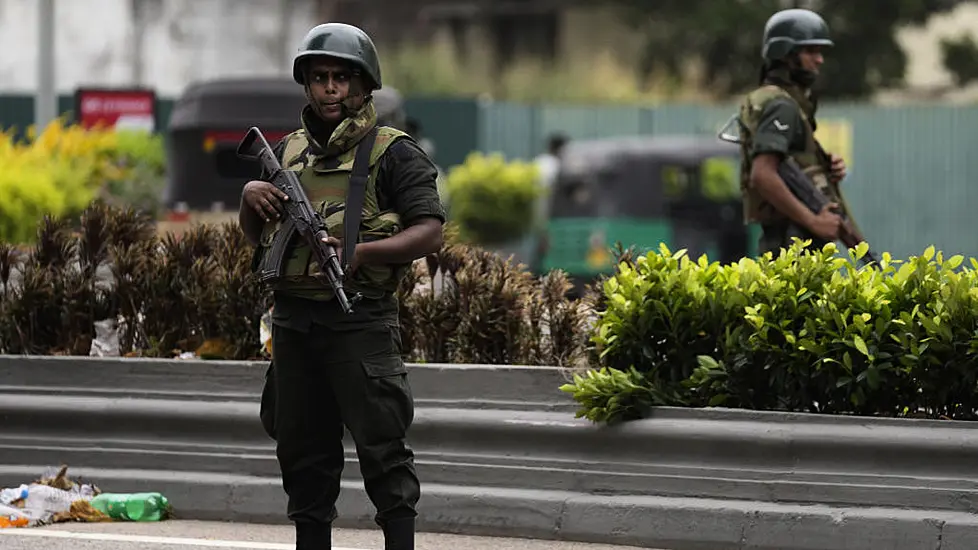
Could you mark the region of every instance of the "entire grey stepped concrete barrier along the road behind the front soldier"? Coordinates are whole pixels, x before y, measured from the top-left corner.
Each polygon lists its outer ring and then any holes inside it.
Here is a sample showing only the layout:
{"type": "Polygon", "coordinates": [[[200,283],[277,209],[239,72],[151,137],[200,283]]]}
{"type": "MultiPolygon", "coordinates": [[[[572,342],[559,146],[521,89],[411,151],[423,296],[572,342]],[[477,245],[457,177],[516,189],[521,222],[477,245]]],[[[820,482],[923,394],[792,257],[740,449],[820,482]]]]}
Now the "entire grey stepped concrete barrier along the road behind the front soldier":
{"type": "MultiPolygon", "coordinates": [[[[107,490],[163,491],[184,518],[285,521],[258,422],[264,364],[79,359],[0,357],[0,485],[65,463],[107,490]]],[[[573,417],[560,369],[410,368],[422,529],[675,550],[978,548],[972,423],[664,408],[596,426],[573,417]]],[[[338,524],[373,527],[347,449],[338,524]]]]}

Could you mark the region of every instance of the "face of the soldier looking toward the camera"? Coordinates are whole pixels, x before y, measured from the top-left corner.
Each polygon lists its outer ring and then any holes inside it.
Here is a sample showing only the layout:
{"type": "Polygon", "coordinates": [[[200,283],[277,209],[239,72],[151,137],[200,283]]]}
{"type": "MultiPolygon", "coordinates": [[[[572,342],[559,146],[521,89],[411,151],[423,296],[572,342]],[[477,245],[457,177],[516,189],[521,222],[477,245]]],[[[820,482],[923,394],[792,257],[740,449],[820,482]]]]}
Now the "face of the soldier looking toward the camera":
{"type": "Polygon", "coordinates": [[[343,106],[356,111],[363,105],[363,86],[353,67],[340,59],[313,58],[306,66],[306,95],[320,118],[337,123],[346,116],[343,106]]]}

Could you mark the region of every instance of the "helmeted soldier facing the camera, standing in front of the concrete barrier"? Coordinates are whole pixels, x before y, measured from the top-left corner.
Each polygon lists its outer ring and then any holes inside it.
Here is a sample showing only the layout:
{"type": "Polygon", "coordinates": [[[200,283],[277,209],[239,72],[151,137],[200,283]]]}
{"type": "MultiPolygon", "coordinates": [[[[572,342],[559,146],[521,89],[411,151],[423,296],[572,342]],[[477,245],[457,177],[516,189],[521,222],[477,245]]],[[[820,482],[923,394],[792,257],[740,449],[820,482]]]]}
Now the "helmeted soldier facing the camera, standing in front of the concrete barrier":
{"type": "MultiPolygon", "coordinates": [[[[262,423],[277,443],[297,550],[331,547],[344,426],[385,548],[413,549],[420,485],[405,443],[414,405],[394,292],[414,260],[441,248],[445,212],[437,170],[410,136],[377,124],[371,92],[382,85],[380,63],[362,30],[340,23],[313,28],[295,57],[293,78],[305,88],[308,105],[300,129],[275,153],[285,169],[297,172],[325,218],[329,242],[348,265],[346,288],[364,298],[345,313],[316,277],[309,247],[296,242],[290,248],[283,275],[269,282],[272,364],[262,423]],[[351,178],[357,170],[361,177],[351,178]],[[366,179],[357,184],[363,191],[356,200],[351,179],[366,179]],[[359,234],[344,235],[345,204],[361,200],[359,234]],[[356,239],[352,258],[342,257],[345,239],[356,239]]],[[[260,179],[244,186],[239,220],[256,245],[256,266],[265,265],[286,199],[260,179]]]]}

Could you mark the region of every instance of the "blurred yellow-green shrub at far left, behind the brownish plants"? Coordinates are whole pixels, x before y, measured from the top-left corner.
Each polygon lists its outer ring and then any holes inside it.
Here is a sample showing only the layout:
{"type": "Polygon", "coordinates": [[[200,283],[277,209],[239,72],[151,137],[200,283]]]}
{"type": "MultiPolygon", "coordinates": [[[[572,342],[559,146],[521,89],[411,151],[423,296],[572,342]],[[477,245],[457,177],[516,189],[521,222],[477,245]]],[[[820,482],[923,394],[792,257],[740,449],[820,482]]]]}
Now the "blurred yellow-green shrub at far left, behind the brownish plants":
{"type": "Polygon", "coordinates": [[[0,240],[26,244],[45,215],[77,221],[96,197],[155,213],[162,192],[159,137],[86,130],[58,120],[24,143],[0,133],[0,240]]]}

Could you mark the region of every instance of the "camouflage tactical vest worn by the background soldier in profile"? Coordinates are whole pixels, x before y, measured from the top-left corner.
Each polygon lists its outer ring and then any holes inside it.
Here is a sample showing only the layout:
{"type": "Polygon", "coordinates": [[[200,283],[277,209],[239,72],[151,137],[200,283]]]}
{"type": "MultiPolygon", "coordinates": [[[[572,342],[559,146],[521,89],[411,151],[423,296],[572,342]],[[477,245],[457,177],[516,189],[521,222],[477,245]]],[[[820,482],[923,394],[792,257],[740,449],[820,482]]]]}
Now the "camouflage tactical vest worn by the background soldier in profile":
{"type": "Polygon", "coordinates": [[[790,151],[789,155],[795,159],[798,166],[808,174],[818,187],[829,199],[838,197],[838,190],[833,185],[826,173],[826,167],[819,161],[818,147],[815,144],[815,132],[808,121],[808,117],[802,110],[801,105],[784,88],[769,84],[762,86],[744,99],[740,106],[741,143],[740,154],[740,191],[744,198],[744,221],[746,223],[759,222],[768,223],[786,220],[787,217],[781,214],[766,200],[764,200],[757,190],[750,185],[751,170],[751,151],[754,148],[753,136],[757,133],[757,125],[760,123],[761,113],[765,106],[775,99],[788,99],[798,107],[802,113],[801,119],[805,125],[805,148],[801,151],[790,151]]]}

